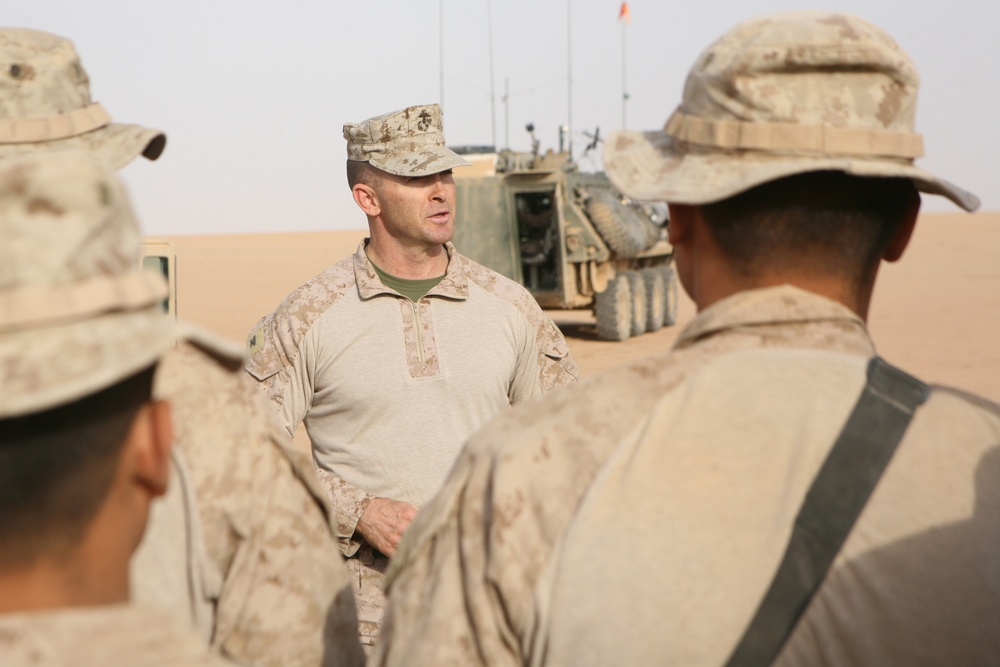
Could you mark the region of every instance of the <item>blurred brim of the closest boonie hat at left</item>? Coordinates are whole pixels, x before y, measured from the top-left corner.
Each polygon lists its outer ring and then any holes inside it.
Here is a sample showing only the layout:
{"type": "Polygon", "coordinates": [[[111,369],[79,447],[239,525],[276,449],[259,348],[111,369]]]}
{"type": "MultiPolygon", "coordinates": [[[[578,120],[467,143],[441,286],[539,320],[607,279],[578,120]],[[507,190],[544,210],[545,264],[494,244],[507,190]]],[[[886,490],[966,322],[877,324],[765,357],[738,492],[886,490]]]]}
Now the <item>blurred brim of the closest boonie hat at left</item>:
{"type": "Polygon", "coordinates": [[[159,303],[0,336],[0,418],[54,408],[152,365],[173,348],[176,323],[159,303]]]}

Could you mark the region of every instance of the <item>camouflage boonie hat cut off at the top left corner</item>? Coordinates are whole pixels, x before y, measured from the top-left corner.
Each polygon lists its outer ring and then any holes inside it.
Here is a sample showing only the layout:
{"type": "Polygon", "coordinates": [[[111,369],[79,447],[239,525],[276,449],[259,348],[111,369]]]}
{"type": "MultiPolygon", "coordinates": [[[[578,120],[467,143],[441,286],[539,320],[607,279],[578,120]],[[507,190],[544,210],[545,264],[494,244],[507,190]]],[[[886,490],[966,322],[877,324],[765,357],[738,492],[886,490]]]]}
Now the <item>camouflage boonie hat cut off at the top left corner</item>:
{"type": "Polygon", "coordinates": [[[155,160],[166,135],[112,123],[90,99],[90,80],[72,42],[24,28],[0,28],[0,157],[82,150],[120,169],[137,155],[155,160]]]}

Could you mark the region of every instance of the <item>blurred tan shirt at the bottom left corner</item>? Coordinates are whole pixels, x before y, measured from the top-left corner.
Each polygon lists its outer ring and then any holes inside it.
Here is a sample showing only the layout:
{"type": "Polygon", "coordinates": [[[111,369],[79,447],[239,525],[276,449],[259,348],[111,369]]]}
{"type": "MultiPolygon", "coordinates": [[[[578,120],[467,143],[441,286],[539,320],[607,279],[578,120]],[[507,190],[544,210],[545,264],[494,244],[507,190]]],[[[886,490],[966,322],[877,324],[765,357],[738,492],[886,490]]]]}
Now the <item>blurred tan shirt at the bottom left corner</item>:
{"type": "Polygon", "coordinates": [[[0,615],[3,667],[225,667],[172,614],[127,604],[0,615]]]}

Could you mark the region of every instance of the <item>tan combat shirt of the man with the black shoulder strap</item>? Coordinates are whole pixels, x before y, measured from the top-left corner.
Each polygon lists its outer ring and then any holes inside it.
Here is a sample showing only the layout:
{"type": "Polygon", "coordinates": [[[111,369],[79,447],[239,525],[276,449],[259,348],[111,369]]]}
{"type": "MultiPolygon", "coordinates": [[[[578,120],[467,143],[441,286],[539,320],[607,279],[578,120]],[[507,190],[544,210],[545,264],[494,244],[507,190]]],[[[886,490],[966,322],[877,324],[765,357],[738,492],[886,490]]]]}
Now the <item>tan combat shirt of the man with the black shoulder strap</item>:
{"type": "MultiPolygon", "coordinates": [[[[841,305],[755,290],[494,420],[404,538],[370,662],[724,664],[873,353],[841,305]]],[[[997,526],[1000,408],[935,389],[776,664],[1000,663],[997,526]]]]}

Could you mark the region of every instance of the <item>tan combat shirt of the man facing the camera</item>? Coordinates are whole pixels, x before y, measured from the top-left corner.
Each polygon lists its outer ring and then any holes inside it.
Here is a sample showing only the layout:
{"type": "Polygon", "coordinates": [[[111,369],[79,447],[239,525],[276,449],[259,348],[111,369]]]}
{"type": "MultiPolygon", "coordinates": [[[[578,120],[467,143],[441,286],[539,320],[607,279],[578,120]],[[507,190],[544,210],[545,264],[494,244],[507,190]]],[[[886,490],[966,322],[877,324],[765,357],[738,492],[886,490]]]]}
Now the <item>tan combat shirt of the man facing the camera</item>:
{"type": "Polygon", "coordinates": [[[487,419],[577,378],[520,285],[448,243],[444,279],[414,303],[379,280],[366,242],[258,322],[246,365],[289,434],[305,420],[346,555],[368,500],[422,506],[487,419]]]}

